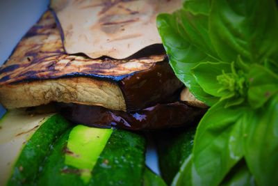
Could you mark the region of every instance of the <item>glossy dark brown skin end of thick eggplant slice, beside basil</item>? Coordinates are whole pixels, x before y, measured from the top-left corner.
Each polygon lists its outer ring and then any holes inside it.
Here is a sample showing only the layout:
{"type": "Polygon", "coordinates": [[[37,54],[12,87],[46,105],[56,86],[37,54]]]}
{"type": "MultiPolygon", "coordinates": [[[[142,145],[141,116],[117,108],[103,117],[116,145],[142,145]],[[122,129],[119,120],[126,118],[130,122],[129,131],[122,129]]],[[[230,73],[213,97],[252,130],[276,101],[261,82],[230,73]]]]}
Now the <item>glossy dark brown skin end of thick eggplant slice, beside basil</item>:
{"type": "Polygon", "coordinates": [[[119,82],[127,111],[136,111],[156,103],[169,102],[183,84],[177,79],[168,60],[155,63],[148,70],[136,72],[119,82]]]}

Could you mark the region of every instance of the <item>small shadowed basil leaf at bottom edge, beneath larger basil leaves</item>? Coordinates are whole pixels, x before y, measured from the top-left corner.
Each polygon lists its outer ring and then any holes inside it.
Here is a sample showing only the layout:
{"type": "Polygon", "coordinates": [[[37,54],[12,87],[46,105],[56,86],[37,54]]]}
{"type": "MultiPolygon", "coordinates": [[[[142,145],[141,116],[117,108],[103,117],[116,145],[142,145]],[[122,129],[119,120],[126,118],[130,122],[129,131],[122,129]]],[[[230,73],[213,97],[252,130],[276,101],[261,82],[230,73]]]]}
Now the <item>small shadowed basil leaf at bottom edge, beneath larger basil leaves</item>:
{"type": "Polygon", "coordinates": [[[222,186],[255,186],[254,176],[250,173],[246,163],[240,161],[239,164],[236,164],[235,167],[231,170],[229,175],[224,179],[220,184],[222,186]]]}

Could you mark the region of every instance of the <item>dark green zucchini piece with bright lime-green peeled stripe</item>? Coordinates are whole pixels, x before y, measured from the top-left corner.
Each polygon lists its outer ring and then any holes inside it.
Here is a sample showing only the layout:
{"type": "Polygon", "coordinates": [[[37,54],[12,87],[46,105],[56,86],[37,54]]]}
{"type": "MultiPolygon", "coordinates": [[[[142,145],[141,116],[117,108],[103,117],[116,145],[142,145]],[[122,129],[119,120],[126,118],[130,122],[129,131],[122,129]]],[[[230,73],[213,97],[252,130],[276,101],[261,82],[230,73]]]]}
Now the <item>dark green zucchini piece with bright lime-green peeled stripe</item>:
{"type": "Polygon", "coordinates": [[[58,140],[37,184],[142,185],[144,152],[145,139],[138,134],[77,125],[58,140]],[[74,146],[81,143],[83,147],[74,146]]]}

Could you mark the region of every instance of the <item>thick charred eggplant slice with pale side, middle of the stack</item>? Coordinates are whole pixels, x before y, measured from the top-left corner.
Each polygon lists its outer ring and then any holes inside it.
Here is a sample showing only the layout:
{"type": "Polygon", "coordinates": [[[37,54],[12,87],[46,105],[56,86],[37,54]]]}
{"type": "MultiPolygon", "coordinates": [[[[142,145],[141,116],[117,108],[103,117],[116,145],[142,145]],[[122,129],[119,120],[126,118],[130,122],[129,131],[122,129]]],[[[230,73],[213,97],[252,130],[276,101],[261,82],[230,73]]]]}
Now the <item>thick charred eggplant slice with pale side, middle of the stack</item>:
{"type": "Polygon", "coordinates": [[[167,100],[182,84],[164,52],[147,53],[123,60],[68,55],[54,15],[47,11],[0,68],[0,102],[7,109],[49,102],[122,111],[149,107],[167,100]]]}

